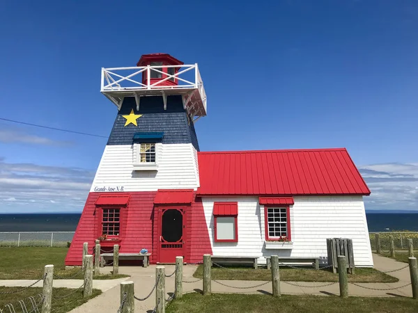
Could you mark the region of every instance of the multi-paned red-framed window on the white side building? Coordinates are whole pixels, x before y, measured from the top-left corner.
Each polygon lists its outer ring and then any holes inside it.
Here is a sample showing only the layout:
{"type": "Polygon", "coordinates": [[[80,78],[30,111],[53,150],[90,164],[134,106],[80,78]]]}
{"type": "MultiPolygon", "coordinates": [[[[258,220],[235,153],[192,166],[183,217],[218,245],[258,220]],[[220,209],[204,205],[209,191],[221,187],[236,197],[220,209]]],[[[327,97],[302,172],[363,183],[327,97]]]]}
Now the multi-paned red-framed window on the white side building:
{"type": "Polygon", "coordinates": [[[265,207],[265,239],[277,240],[286,237],[291,240],[289,207],[265,207]]]}

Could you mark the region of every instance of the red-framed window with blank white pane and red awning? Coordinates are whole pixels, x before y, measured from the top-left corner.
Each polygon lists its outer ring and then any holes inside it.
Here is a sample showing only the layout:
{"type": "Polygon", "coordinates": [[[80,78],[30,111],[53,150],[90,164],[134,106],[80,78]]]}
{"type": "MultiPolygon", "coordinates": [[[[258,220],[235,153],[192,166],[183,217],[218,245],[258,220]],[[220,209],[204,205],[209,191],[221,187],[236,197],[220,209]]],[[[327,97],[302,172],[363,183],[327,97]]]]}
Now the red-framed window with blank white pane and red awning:
{"type": "Polygon", "coordinates": [[[215,242],[238,242],[238,202],[213,204],[215,242]]]}

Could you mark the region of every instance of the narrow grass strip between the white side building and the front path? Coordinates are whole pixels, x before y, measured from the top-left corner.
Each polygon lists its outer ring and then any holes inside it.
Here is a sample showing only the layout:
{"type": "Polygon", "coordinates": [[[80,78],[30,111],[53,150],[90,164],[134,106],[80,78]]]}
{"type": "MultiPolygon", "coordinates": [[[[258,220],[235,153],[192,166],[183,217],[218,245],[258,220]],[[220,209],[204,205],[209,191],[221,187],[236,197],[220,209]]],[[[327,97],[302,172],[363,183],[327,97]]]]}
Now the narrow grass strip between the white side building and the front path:
{"type": "MultiPolygon", "coordinates": [[[[215,280],[271,280],[272,272],[265,268],[255,270],[249,267],[231,267],[229,269],[212,267],[212,279],[215,280]]],[[[199,265],[193,274],[202,278],[203,265],[199,265]]],[[[338,274],[328,270],[280,268],[280,279],[292,282],[338,282],[338,274]]],[[[348,274],[349,282],[398,282],[398,278],[389,276],[373,268],[356,268],[355,275],[348,274]]]]}

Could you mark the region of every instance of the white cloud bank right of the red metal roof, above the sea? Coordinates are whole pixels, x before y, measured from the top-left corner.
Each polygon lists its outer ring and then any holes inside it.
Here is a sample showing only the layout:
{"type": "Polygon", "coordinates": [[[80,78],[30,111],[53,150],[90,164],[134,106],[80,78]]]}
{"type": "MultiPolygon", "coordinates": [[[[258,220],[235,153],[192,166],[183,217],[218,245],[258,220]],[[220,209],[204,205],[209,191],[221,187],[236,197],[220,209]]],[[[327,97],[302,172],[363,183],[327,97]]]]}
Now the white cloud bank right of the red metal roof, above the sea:
{"type": "Polygon", "coordinates": [[[418,163],[385,163],[359,168],[371,189],[366,209],[418,210],[418,163]]]}

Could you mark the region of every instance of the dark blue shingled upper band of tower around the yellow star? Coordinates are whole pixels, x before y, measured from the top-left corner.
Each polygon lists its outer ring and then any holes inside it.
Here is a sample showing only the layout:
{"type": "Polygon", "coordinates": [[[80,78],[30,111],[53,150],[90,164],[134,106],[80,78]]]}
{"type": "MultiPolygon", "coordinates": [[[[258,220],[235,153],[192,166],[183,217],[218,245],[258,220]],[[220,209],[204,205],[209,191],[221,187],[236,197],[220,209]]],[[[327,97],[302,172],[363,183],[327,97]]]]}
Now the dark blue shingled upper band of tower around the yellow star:
{"type": "Polygon", "coordinates": [[[194,124],[187,118],[181,96],[167,97],[165,111],[162,97],[141,97],[139,112],[134,97],[125,98],[107,145],[132,145],[134,134],[139,132],[162,132],[162,143],[192,143],[199,151],[194,124]],[[142,116],[137,119],[138,126],[130,124],[125,127],[126,119],[122,115],[129,115],[132,109],[142,116]]]}

